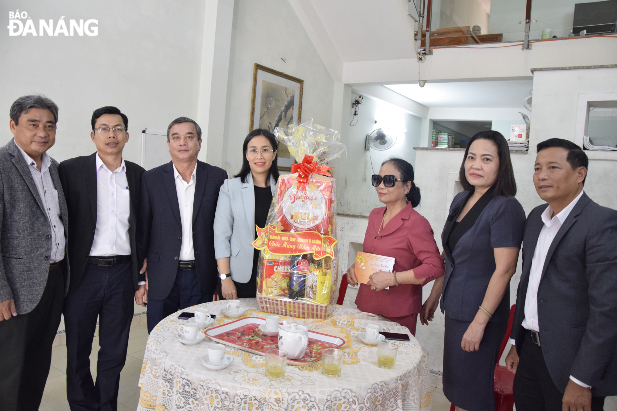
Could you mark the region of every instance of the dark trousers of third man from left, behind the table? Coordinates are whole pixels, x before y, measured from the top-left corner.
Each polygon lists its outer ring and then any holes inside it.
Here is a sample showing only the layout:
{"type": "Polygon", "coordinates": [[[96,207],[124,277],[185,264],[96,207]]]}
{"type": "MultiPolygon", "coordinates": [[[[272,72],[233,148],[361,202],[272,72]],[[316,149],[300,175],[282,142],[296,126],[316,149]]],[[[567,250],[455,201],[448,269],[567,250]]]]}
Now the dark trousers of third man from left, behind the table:
{"type": "Polygon", "coordinates": [[[154,327],[168,315],[186,307],[210,302],[213,297],[214,293],[206,294],[201,289],[195,268],[191,270],[180,270],[178,268],[176,280],[167,297],[162,300],[148,299],[146,311],[148,333],[151,333],[154,327]]]}

